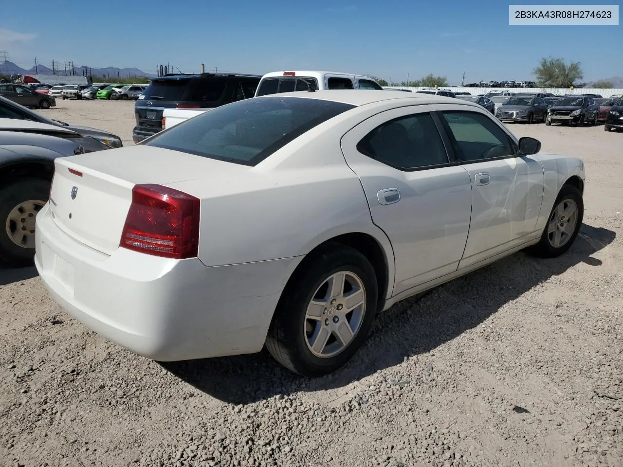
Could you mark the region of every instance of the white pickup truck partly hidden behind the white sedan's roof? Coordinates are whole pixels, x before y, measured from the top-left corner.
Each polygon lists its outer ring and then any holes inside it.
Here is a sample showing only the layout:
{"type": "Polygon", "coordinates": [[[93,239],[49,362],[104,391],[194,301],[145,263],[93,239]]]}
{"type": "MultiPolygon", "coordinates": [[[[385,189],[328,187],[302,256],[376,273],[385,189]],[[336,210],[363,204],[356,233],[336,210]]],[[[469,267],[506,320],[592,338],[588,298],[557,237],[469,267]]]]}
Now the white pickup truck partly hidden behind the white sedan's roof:
{"type": "MultiPolygon", "coordinates": [[[[262,76],[254,97],[282,92],[324,89],[369,89],[383,90],[373,78],[342,72],[320,72],[313,70],[292,72],[270,72],[262,76]]],[[[178,123],[212,110],[211,108],[180,109],[168,108],[163,111],[162,128],[171,128],[178,123]]]]}

